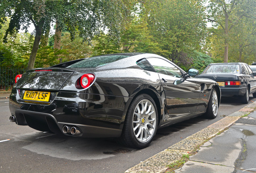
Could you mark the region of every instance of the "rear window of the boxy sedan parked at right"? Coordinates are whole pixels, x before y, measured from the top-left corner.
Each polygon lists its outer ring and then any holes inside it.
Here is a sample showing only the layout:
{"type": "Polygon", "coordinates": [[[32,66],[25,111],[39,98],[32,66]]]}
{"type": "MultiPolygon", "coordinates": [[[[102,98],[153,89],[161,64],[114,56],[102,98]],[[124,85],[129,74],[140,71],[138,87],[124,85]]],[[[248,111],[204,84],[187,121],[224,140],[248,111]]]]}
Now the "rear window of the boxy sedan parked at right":
{"type": "Polygon", "coordinates": [[[240,73],[240,70],[239,64],[215,64],[207,66],[202,73],[240,73]]]}

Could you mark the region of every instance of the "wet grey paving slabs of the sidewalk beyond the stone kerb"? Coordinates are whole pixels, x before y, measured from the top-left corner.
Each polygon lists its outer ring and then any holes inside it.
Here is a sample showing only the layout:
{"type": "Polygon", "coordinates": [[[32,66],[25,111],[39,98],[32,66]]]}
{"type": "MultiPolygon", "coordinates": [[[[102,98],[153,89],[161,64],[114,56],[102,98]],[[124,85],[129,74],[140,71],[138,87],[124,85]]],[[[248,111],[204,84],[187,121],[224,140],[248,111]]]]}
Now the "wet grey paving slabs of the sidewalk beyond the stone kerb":
{"type": "Polygon", "coordinates": [[[256,173],[256,112],[204,143],[175,173],[256,173]]]}

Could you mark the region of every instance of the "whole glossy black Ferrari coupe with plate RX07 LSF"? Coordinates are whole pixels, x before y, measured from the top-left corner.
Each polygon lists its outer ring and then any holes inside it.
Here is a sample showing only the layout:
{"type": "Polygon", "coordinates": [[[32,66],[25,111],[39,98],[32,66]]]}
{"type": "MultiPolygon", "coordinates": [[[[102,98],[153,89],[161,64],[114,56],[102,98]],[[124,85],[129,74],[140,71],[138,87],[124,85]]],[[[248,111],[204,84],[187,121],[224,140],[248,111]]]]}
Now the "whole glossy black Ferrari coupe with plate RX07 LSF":
{"type": "Polygon", "coordinates": [[[17,76],[10,121],[79,137],[119,137],[147,147],[157,129],[205,114],[214,119],[217,82],[192,78],[156,54],[125,53],[74,60],[17,76]]]}

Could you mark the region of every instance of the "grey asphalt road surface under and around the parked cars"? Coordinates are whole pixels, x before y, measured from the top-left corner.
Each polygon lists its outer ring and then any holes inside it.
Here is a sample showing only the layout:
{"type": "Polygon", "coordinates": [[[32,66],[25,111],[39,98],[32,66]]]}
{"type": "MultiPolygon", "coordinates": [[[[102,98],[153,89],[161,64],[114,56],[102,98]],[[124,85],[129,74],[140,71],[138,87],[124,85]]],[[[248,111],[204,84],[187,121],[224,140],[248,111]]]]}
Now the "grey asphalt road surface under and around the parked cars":
{"type": "Polygon", "coordinates": [[[137,150],[114,139],[66,137],[9,123],[8,99],[0,99],[0,172],[123,173],[244,106],[237,98],[222,98],[216,119],[200,116],[159,129],[149,147],[137,150]]]}

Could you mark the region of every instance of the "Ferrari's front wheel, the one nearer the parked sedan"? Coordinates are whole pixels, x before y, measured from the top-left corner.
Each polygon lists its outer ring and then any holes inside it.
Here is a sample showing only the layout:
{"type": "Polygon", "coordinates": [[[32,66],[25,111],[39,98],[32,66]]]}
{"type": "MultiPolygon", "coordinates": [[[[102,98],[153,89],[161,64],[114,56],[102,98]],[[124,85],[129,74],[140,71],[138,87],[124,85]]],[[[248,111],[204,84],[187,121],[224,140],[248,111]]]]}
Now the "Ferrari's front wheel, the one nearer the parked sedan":
{"type": "Polygon", "coordinates": [[[218,102],[218,95],[215,89],[213,89],[210,99],[209,99],[209,103],[208,103],[208,107],[206,110],[206,117],[209,119],[215,119],[217,117],[218,114],[218,108],[219,108],[219,102],[218,102]]]}

